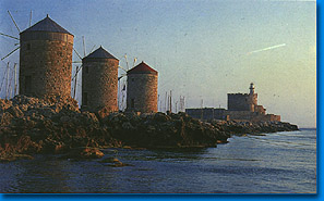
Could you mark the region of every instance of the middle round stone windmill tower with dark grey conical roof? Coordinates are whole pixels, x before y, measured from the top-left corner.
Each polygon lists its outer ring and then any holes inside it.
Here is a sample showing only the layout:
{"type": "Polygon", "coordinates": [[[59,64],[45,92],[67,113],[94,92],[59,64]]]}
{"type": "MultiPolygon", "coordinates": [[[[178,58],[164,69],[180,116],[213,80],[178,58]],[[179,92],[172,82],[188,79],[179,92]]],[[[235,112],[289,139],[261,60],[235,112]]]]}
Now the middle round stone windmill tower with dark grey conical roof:
{"type": "Polygon", "coordinates": [[[82,109],[118,111],[118,64],[103,47],[82,60],[82,109]]]}

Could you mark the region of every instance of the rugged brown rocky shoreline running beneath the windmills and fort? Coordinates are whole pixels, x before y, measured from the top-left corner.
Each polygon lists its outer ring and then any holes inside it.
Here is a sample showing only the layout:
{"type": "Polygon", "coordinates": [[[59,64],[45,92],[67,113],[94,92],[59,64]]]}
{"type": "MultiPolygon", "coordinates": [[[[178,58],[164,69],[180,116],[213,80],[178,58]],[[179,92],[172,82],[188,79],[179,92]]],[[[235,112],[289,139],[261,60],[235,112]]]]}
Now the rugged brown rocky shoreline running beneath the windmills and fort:
{"type": "Polygon", "coordinates": [[[298,127],[283,122],[201,122],[185,113],[91,113],[62,97],[0,99],[0,161],[37,153],[93,159],[101,158],[106,148],[216,147],[231,135],[290,130],[298,127]]]}

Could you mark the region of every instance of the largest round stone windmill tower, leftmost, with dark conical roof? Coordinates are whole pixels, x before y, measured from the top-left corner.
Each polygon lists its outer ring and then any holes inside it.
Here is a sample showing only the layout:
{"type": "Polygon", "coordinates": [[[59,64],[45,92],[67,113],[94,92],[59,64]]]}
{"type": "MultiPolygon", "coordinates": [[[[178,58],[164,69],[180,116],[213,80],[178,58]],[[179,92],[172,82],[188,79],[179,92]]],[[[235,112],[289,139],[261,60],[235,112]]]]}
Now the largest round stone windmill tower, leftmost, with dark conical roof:
{"type": "Polygon", "coordinates": [[[48,15],[20,35],[20,95],[70,97],[73,35],[48,15]]]}

